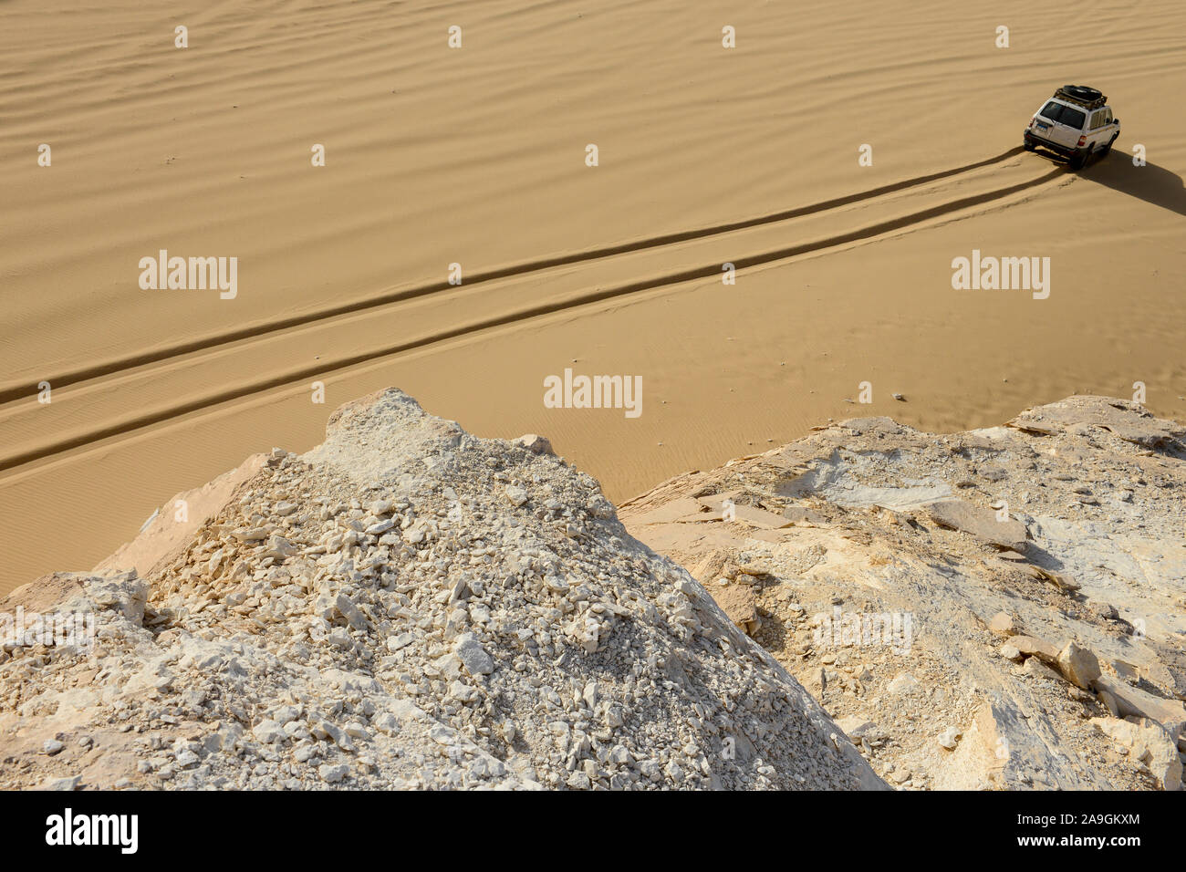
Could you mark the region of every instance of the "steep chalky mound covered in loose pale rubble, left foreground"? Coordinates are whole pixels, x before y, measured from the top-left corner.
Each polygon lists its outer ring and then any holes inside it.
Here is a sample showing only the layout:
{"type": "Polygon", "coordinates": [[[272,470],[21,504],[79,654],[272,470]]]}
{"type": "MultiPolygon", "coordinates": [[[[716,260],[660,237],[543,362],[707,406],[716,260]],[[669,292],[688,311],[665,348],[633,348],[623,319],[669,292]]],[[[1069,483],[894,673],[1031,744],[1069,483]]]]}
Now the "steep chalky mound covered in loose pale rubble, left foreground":
{"type": "Polygon", "coordinates": [[[0,785],[884,787],[547,440],[389,389],[186,496],[0,603],[96,636],[5,645],[0,785]]]}

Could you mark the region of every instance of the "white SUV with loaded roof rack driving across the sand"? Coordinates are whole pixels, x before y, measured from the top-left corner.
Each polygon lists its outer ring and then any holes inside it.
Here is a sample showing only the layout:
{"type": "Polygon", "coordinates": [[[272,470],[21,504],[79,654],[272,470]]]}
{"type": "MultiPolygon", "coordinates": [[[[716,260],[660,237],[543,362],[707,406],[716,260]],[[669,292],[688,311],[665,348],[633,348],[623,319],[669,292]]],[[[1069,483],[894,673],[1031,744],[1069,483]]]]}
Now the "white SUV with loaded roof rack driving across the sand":
{"type": "Polygon", "coordinates": [[[1108,97],[1095,88],[1065,84],[1029,119],[1026,151],[1041,146],[1064,155],[1080,170],[1092,154],[1104,155],[1120,135],[1108,97]]]}

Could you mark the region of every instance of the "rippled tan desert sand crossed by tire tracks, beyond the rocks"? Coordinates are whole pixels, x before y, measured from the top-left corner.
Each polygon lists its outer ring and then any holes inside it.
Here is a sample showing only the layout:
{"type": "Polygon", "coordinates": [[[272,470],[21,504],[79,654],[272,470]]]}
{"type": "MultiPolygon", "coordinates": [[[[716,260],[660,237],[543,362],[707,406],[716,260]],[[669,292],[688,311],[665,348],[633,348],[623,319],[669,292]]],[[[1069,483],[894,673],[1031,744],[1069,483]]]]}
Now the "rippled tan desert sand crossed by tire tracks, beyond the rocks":
{"type": "Polygon", "coordinates": [[[857,413],[1186,419],[1179,0],[691,6],[0,6],[0,591],[389,384],[616,501],[857,413]],[[1123,125],[1079,173],[1020,151],[1069,82],[1123,125]],[[160,249],[237,294],[141,289],[160,249]],[[1050,297],[952,289],[973,250],[1050,297]],[[547,408],[566,368],[642,414],[547,408]]]}

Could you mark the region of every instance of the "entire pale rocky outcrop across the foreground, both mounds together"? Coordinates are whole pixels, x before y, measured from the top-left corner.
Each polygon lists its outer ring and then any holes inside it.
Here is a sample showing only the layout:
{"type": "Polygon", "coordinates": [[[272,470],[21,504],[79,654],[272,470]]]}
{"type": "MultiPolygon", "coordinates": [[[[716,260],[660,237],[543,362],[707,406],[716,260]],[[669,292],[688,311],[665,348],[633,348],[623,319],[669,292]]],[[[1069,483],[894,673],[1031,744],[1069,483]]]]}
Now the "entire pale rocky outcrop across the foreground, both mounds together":
{"type": "Polygon", "coordinates": [[[382,392],[0,603],[0,785],[1179,789],[1184,439],[856,419],[616,513],[382,392]]]}

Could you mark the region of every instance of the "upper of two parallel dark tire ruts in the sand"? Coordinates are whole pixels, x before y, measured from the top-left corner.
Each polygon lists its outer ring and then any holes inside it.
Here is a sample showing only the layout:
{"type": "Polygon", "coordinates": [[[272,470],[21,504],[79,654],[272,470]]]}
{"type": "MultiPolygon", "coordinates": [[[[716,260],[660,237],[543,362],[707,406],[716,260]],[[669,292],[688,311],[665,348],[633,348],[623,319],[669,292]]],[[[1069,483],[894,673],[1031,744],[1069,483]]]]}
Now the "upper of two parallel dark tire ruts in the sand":
{"type": "MultiPolygon", "coordinates": [[[[635,240],[632,242],[624,242],[614,246],[604,246],[601,248],[586,249],[584,252],[574,252],[572,254],[555,255],[533,261],[524,261],[506,267],[487,269],[485,272],[474,273],[473,275],[471,275],[468,279],[465,280],[464,287],[468,288],[474,285],[497,281],[499,279],[530,275],[531,273],[554,269],[556,267],[572,266],[575,263],[582,263],[593,260],[600,260],[602,257],[612,257],[614,255],[645,252],[649,249],[662,248],[664,246],[671,246],[680,242],[689,242],[694,240],[709,238],[714,236],[723,236],[729,233],[737,233],[739,230],[761,227],[764,224],[774,224],[782,221],[789,221],[792,218],[801,218],[809,215],[816,215],[818,212],[829,211],[831,209],[839,209],[841,206],[852,205],[854,203],[876,199],[888,193],[895,193],[912,187],[918,187],[920,185],[926,185],[932,182],[939,182],[943,179],[962,176],[973,172],[975,170],[981,170],[983,167],[991,166],[994,164],[1000,164],[1022,152],[1024,148],[1021,148],[1021,146],[1016,146],[1014,148],[1009,148],[1008,151],[1002,152],[1001,154],[997,154],[991,158],[986,158],[983,160],[978,160],[973,164],[967,164],[964,166],[958,166],[951,170],[940,170],[938,172],[929,173],[926,176],[918,176],[911,179],[905,179],[903,182],[895,182],[892,184],[881,185],[879,187],[873,187],[866,191],[860,191],[857,193],[852,193],[852,195],[846,195],[843,197],[836,197],[833,199],[822,201],[820,203],[812,203],[805,206],[797,206],[795,209],[786,209],[778,212],[771,212],[769,215],[760,215],[752,218],[744,218],[740,221],[715,224],[712,227],[699,228],[694,230],[682,230],[677,233],[664,234],[661,236],[652,236],[644,240],[635,240]]],[[[734,261],[734,263],[738,262],[734,261]]],[[[741,265],[738,263],[739,268],[740,266],[741,265]]],[[[152,351],[144,351],[140,354],[113,358],[104,363],[63,370],[51,375],[43,375],[38,378],[38,381],[47,381],[55,388],[69,387],[71,384],[77,384],[78,382],[91,381],[94,378],[102,378],[104,376],[119,374],[126,370],[135,369],[138,367],[145,367],[148,364],[168,361],[171,358],[180,357],[183,355],[195,354],[199,351],[208,351],[210,349],[215,349],[221,345],[227,345],[234,342],[254,339],[262,336],[278,333],[285,330],[291,330],[293,327],[306,326],[310,324],[315,324],[318,322],[329,320],[331,318],[338,318],[345,314],[355,314],[358,312],[364,312],[369,308],[387,306],[393,303],[403,303],[407,300],[414,300],[436,293],[455,292],[458,291],[459,287],[461,286],[449,285],[447,281],[439,281],[439,282],[432,282],[429,285],[420,285],[410,288],[389,291],[385,293],[377,294],[376,297],[368,298],[365,300],[355,300],[352,303],[344,303],[337,306],[330,306],[326,308],[315,310],[313,312],[306,312],[299,316],[289,316],[287,318],[279,318],[276,320],[264,322],[262,324],[248,325],[244,327],[238,327],[236,330],[229,330],[222,333],[217,333],[215,336],[191,339],[189,342],[178,343],[176,345],[170,345],[166,348],[154,349],[152,351]]],[[[0,388],[0,405],[13,402],[15,400],[27,399],[31,394],[36,394],[36,390],[31,389],[28,382],[9,383],[0,388]]],[[[4,469],[7,469],[7,466],[0,464],[0,470],[4,469]]]]}

